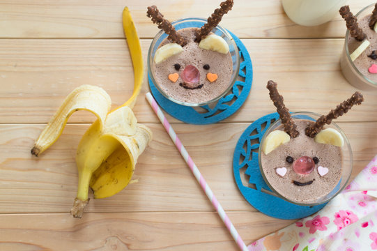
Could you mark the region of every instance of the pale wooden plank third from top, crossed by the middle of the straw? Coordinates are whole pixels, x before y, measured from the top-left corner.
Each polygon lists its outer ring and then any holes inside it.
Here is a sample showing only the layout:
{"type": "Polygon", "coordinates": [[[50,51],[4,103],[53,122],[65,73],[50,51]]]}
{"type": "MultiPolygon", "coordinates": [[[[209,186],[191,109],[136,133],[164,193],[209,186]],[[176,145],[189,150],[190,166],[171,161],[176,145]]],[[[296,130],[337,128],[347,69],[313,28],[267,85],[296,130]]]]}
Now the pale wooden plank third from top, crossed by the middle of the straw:
{"type": "MultiPolygon", "coordinates": [[[[66,213],[77,190],[75,152],[88,124],[70,124],[36,158],[30,149],[44,125],[0,126],[0,213],[66,213]]],[[[213,206],[160,124],[147,124],[153,141],[141,155],[138,183],[107,199],[92,199],[87,212],[213,211],[213,206]]],[[[226,211],[254,212],[233,178],[233,151],[249,123],[173,125],[226,211]],[[198,140],[201,139],[201,140],[198,140]]],[[[355,177],[374,157],[377,123],[339,123],[354,154],[355,177]]],[[[91,195],[92,197],[92,195],[91,195]]]]}

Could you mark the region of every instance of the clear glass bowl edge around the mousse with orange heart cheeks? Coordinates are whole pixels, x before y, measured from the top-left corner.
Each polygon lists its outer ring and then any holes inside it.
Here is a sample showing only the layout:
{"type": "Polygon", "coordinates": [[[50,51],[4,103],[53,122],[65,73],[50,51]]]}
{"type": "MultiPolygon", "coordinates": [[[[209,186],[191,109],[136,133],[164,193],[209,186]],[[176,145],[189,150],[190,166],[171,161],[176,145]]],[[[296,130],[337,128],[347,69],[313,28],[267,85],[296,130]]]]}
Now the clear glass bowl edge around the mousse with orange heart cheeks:
{"type": "MultiPolygon", "coordinates": [[[[174,22],[171,22],[171,24],[176,28],[177,31],[180,29],[185,29],[185,28],[190,28],[190,27],[195,27],[195,28],[200,28],[203,26],[203,24],[206,24],[207,20],[203,18],[197,18],[197,17],[190,17],[190,18],[185,18],[181,20],[177,20],[174,22]]],[[[153,66],[153,59],[155,56],[155,52],[162,43],[162,41],[167,38],[167,34],[164,33],[164,31],[159,31],[155,38],[153,38],[153,41],[151,43],[151,46],[149,47],[148,51],[148,75],[151,77],[151,80],[153,84],[155,85],[156,89],[160,91],[160,93],[165,97],[168,98],[169,100],[178,103],[179,105],[186,105],[186,106],[192,106],[192,107],[197,107],[197,106],[202,106],[202,105],[208,105],[212,102],[215,102],[222,98],[228,91],[231,89],[233,84],[236,82],[237,76],[238,76],[238,70],[240,70],[240,54],[238,52],[238,47],[236,43],[234,42],[233,38],[231,35],[226,31],[226,29],[222,28],[221,26],[217,25],[213,30],[213,33],[215,33],[218,36],[221,36],[224,38],[226,43],[229,45],[229,52],[231,53],[231,59],[232,59],[232,66],[233,66],[233,71],[231,75],[231,79],[229,82],[229,86],[226,88],[226,90],[223,93],[220,93],[219,96],[211,99],[211,100],[205,100],[203,102],[184,102],[182,100],[176,100],[175,98],[172,98],[169,96],[167,93],[165,93],[164,90],[160,88],[160,85],[156,82],[155,74],[153,72],[152,66],[153,66]]]]}

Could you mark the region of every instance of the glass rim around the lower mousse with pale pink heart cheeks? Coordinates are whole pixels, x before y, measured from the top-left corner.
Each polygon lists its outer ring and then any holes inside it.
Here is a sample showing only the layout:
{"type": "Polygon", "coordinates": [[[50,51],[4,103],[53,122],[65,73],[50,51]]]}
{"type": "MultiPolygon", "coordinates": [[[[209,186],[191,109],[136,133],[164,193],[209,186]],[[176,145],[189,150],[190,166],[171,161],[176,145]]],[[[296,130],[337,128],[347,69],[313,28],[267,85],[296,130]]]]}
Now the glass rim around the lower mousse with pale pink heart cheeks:
{"type": "MultiPolygon", "coordinates": [[[[291,112],[291,116],[296,116],[296,115],[311,115],[311,116],[317,116],[318,118],[320,116],[322,116],[321,114],[317,114],[315,112],[291,112]]],[[[296,119],[296,118],[293,118],[293,119],[296,119]]],[[[352,174],[352,169],[353,169],[353,153],[352,153],[352,149],[351,149],[351,144],[348,140],[348,137],[344,134],[343,130],[341,130],[341,128],[337,125],[337,123],[334,123],[334,122],[331,122],[330,125],[331,126],[334,126],[334,128],[336,128],[338,130],[338,132],[341,134],[341,136],[344,138],[344,143],[347,145],[347,149],[348,149],[348,155],[349,155],[349,159],[350,159],[350,162],[351,162],[351,172],[349,172],[349,174],[347,175],[346,177],[346,181],[344,182],[344,184],[339,187],[339,190],[337,192],[334,193],[334,195],[332,195],[331,197],[329,197],[328,199],[323,199],[321,201],[318,201],[318,202],[312,202],[312,203],[301,203],[301,202],[298,202],[298,201],[293,201],[291,199],[288,199],[286,197],[284,197],[283,195],[281,195],[279,192],[277,192],[277,190],[275,190],[275,188],[272,187],[272,185],[270,185],[270,182],[268,182],[268,179],[266,178],[266,176],[264,175],[264,172],[263,172],[263,168],[262,168],[262,162],[261,162],[261,146],[262,146],[262,143],[263,141],[266,139],[267,135],[268,135],[268,132],[270,132],[270,128],[273,128],[273,126],[275,126],[277,123],[281,122],[282,119],[277,119],[276,121],[274,121],[273,123],[270,124],[270,126],[266,129],[266,132],[264,133],[262,139],[261,139],[261,142],[259,142],[259,149],[258,149],[258,161],[259,161],[259,171],[261,172],[261,175],[263,177],[263,181],[266,182],[266,184],[268,185],[268,188],[270,188],[272,190],[272,192],[279,198],[281,199],[284,199],[285,201],[288,201],[292,204],[296,204],[296,205],[299,205],[299,206],[317,206],[317,205],[321,205],[321,204],[325,204],[327,203],[328,201],[330,201],[331,199],[333,199],[335,196],[339,195],[339,193],[341,191],[344,190],[344,188],[346,188],[346,185],[348,184],[348,181],[350,180],[351,178],[351,174],[352,174]]],[[[344,151],[342,151],[343,153],[344,151]]],[[[342,173],[343,173],[343,168],[342,168],[342,173]]],[[[341,177],[343,178],[343,177],[341,177]]],[[[341,178],[339,179],[339,182],[341,181],[341,178]]]]}

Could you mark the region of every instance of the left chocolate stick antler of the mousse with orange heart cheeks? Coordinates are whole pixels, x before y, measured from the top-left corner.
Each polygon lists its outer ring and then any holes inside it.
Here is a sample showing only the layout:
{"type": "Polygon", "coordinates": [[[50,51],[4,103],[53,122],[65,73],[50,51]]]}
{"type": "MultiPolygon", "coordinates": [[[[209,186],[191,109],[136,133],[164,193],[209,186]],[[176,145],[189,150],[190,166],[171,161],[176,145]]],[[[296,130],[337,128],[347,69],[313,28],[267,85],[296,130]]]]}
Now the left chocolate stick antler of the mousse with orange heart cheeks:
{"type": "Polygon", "coordinates": [[[164,15],[160,13],[156,6],[149,6],[146,11],[146,16],[152,17],[152,22],[157,24],[158,28],[163,29],[165,33],[169,35],[167,39],[171,40],[171,42],[178,43],[180,46],[187,44],[185,38],[178,34],[174,26],[171,25],[168,20],[164,19],[164,15]]]}

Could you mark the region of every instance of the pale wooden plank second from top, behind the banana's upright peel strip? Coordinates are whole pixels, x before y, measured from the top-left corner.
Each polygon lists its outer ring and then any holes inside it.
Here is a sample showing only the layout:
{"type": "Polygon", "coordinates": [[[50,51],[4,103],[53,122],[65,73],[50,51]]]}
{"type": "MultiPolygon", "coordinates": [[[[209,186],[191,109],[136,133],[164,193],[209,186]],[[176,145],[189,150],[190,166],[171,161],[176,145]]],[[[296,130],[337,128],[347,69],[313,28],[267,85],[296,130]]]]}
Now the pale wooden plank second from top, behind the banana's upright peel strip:
{"type": "MultiPolygon", "coordinates": [[[[150,43],[141,40],[145,62],[150,43]]],[[[286,106],[293,112],[327,114],[357,91],[340,71],[341,39],[253,39],[243,43],[252,57],[252,91],[243,107],[225,122],[254,121],[275,112],[266,89],[269,79],[279,83],[286,106]]],[[[82,84],[104,88],[113,107],[132,93],[132,63],[125,40],[4,39],[0,40],[0,55],[1,123],[47,123],[66,95],[82,84]]],[[[144,99],[148,89],[144,81],[134,112],[142,123],[158,123],[144,99]]],[[[365,102],[338,121],[376,121],[377,92],[363,94],[365,102]]],[[[78,112],[70,123],[94,119],[88,112],[78,112]]]]}

